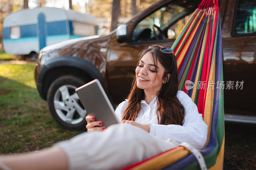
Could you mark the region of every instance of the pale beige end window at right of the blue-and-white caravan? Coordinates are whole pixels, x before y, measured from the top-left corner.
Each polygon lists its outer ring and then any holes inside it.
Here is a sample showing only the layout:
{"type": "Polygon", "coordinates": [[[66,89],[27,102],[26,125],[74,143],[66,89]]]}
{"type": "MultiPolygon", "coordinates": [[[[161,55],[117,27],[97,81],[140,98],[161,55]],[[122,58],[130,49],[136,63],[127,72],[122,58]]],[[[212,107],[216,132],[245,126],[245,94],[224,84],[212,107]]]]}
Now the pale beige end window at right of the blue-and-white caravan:
{"type": "Polygon", "coordinates": [[[80,22],[72,22],[72,25],[74,35],[90,36],[96,34],[94,25],[84,24],[80,22]]]}

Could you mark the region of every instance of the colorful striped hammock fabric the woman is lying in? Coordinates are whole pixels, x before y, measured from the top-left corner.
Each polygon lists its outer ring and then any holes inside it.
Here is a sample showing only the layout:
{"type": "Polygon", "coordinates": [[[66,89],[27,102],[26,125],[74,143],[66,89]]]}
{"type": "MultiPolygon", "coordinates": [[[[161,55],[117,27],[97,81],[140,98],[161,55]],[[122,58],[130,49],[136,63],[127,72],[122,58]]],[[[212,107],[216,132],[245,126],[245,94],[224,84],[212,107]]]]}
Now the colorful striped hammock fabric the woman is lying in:
{"type": "MultiPolygon", "coordinates": [[[[208,125],[207,142],[200,152],[208,169],[222,169],[224,108],[218,0],[203,0],[198,5],[172,49],[177,57],[179,90],[192,98],[208,125]]],[[[124,169],[200,169],[200,166],[188,149],[179,146],[124,169]]]]}

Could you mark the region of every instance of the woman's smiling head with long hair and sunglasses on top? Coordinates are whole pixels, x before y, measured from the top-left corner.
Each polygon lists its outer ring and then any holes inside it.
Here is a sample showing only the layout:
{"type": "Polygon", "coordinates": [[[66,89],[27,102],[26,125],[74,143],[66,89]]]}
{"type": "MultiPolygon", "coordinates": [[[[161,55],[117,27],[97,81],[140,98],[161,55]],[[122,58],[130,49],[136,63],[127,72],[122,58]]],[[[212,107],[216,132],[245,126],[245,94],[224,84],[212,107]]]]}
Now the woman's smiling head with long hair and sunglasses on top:
{"type": "Polygon", "coordinates": [[[133,88],[128,97],[130,102],[122,119],[135,121],[141,112],[140,100],[149,104],[157,96],[157,122],[165,125],[183,124],[185,110],[176,96],[178,70],[173,58],[175,55],[170,48],[159,45],[151,45],[142,52],[135,70],[133,88]],[[136,107],[133,107],[134,105],[136,107]]]}

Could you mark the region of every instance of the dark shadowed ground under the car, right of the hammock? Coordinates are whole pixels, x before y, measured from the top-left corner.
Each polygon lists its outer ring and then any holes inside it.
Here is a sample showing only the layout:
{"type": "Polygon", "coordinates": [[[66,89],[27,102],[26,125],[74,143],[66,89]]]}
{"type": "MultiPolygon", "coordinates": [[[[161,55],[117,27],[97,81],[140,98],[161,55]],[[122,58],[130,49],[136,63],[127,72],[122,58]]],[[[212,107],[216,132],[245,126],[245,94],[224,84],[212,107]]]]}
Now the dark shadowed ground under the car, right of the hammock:
{"type": "Polygon", "coordinates": [[[256,125],[225,123],[223,169],[256,169],[256,125]]]}

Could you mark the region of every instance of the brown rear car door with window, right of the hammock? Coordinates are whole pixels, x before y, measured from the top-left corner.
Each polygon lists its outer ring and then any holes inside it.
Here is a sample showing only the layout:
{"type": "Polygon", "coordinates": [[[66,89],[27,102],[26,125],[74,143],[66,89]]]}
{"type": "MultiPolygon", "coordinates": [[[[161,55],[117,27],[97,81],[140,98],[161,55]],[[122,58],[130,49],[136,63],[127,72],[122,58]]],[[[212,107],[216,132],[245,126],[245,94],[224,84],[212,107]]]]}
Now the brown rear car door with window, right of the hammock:
{"type": "Polygon", "coordinates": [[[225,114],[256,115],[256,1],[230,0],[222,25],[225,114]]]}

